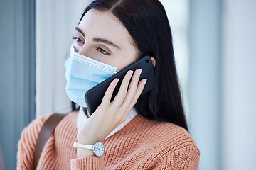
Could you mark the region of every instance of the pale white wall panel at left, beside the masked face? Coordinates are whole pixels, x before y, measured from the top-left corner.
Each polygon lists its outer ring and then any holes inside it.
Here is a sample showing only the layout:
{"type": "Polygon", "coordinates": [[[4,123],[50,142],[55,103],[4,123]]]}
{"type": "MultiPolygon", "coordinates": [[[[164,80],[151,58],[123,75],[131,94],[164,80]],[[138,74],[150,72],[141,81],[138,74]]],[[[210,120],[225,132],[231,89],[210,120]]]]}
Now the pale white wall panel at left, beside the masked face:
{"type": "Polygon", "coordinates": [[[88,0],[36,1],[36,117],[68,113],[65,67],[75,26],[88,0]]]}

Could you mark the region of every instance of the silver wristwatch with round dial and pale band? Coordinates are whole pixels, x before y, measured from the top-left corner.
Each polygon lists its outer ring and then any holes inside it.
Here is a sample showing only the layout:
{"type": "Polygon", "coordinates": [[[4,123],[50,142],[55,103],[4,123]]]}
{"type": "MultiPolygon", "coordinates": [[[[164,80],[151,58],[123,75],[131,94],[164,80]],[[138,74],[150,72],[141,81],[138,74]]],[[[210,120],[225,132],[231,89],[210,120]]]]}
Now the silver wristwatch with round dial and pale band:
{"type": "Polygon", "coordinates": [[[105,147],[102,144],[102,142],[96,142],[95,145],[83,145],[78,142],[74,142],[73,147],[82,147],[85,149],[90,149],[97,157],[101,157],[105,152],[105,147]]]}

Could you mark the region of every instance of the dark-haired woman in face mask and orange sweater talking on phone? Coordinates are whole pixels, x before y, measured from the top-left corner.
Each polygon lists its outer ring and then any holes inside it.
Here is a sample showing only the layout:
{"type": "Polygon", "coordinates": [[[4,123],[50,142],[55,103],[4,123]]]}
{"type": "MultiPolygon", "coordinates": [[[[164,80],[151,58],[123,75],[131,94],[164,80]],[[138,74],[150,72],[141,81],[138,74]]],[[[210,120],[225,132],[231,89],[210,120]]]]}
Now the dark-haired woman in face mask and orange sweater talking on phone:
{"type": "MultiPolygon", "coordinates": [[[[200,152],[188,133],[171,29],[161,3],[93,1],[75,30],[70,58],[65,62],[65,90],[82,107],[58,123],[43,149],[38,169],[197,169],[200,152]],[[110,98],[119,79],[112,81],[90,116],[83,99],[85,91],[144,55],[151,57],[154,66],[153,89],[140,96],[146,79],[139,81],[141,69],[129,71],[114,101],[110,98]],[[97,151],[85,149],[85,145],[97,142],[97,151]]],[[[23,130],[18,169],[34,168],[36,140],[47,118],[34,120],[23,130]]]]}

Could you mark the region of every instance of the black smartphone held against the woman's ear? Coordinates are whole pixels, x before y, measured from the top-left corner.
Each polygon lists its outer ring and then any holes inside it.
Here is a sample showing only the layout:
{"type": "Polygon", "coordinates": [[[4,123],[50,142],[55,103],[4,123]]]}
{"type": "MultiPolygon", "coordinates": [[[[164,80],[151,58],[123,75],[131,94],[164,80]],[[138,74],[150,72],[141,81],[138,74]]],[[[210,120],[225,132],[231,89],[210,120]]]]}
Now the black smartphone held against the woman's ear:
{"type": "Polygon", "coordinates": [[[94,86],[92,89],[87,91],[87,93],[85,94],[85,103],[87,104],[87,111],[89,112],[89,114],[92,115],[92,113],[95,112],[96,108],[100,106],[102,98],[105,95],[105,91],[107,91],[108,86],[115,78],[118,78],[119,81],[113,91],[111,101],[114,100],[114,97],[117,95],[125,74],[127,74],[129,70],[133,70],[135,72],[136,69],[142,69],[142,74],[140,75],[139,81],[142,79],[147,79],[141,96],[147,91],[151,90],[154,84],[155,74],[151,57],[146,55],[141,59],[137,60],[136,62],[125,67],[121,71],[117,72],[116,74],[112,75],[112,77],[106,79],[105,81],[102,81],[100,84],[97,84],[97,86],[94,86]]]}

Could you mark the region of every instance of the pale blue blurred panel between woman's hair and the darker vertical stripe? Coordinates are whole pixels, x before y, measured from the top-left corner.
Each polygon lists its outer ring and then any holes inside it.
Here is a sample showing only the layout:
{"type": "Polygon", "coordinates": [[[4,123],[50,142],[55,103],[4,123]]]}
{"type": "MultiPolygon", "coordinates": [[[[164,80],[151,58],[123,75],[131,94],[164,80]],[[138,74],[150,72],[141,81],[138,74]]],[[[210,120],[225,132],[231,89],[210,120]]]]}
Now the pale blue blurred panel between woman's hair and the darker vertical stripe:
{"type": "Polygon", "coordinates": [[[201,151],[199,169],[220,169],[221,0],[190,1],[188,126],[201,151]]]}

